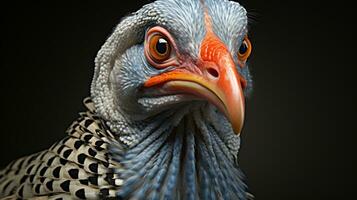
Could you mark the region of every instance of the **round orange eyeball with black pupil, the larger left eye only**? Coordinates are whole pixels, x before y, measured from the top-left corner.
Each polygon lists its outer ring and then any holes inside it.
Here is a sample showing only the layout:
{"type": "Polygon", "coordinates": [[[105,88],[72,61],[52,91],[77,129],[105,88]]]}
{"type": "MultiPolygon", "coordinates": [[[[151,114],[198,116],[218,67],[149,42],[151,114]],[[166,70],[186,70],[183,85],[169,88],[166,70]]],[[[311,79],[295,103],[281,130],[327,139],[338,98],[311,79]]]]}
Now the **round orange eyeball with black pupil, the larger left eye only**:
{"type": "Polygon", "coordinates": [[[171,45],[168,39],[160,34],[153,35],[149,39],[150,57],[156,62],[164,62],[171,56],[171,45]]]}

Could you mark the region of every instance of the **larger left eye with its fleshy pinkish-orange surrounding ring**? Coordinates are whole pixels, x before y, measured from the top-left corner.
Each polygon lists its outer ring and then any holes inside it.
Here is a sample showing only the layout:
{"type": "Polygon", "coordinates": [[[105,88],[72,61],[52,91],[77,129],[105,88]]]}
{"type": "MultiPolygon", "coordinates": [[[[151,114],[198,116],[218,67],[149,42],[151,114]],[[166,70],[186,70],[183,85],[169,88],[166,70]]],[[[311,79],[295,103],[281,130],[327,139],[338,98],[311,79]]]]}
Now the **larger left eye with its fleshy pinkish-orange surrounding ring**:
{"type": "Polygon", "coordinates": [[[163,69],[179,64],[177,47],[173,37],[163,27],[150,28],[145,35],[146,60],[155,68],[163,69]]]}

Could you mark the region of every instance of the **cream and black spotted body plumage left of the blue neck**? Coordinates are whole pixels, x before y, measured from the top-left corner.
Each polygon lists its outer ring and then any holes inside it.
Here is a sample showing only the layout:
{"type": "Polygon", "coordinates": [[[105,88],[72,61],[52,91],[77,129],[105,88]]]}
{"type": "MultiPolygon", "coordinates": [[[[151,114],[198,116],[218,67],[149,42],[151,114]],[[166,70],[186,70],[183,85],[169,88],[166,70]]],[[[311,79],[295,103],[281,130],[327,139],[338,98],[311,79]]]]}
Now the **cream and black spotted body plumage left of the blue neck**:
{"type": "Polygon", "coordinates": [[[115,197],[113,189],[122,180],[113,171],[120,163],[110,159],[108,143],[116,139],[95,115],[92,101],[88,98],[84,102],[88,111],[80,113],[66,138],[48,150],[13,161],[0,172],[0,196],[115,197]]]}

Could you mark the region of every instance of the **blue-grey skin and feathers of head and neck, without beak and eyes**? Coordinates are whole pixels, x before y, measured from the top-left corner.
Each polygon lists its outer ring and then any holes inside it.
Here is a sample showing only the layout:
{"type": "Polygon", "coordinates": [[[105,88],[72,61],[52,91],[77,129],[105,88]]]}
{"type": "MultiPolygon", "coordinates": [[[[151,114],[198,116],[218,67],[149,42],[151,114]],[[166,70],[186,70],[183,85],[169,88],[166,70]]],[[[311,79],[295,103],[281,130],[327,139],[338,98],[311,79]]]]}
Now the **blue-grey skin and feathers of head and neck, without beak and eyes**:
{"type": "Polygon", "coordinates": [[[152,77],[198,66],[202,43],[210,32],[224,44],[237,74],[245,80],[246,95],[252,81],[238,53],[247,25],[246,10],[237,2],[157,0],[115,28],[97,55],[91,96],[96,112],[124,144],[111,148],[111,155],[123,165],[116,171],[125,180],[120,196],[250,197],[237,162],[239,134],[227,113],[202,95],[168,92],[163,84],[145,87],[152,77]],[[178,65],[158,68],[148,60],[147,35],[157,27],[170,35],[178,65]]]}

